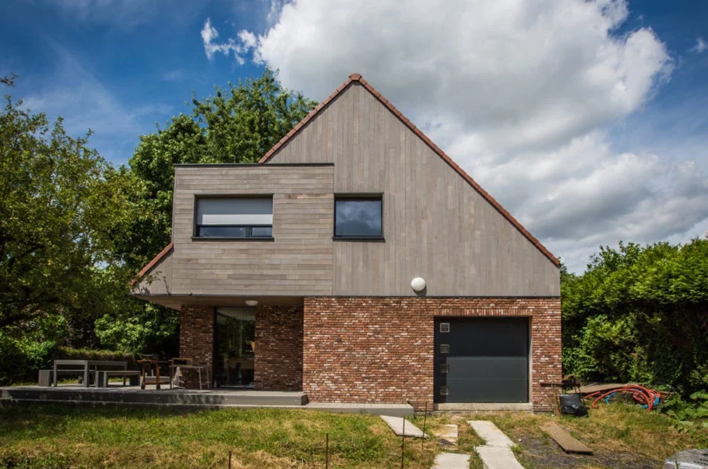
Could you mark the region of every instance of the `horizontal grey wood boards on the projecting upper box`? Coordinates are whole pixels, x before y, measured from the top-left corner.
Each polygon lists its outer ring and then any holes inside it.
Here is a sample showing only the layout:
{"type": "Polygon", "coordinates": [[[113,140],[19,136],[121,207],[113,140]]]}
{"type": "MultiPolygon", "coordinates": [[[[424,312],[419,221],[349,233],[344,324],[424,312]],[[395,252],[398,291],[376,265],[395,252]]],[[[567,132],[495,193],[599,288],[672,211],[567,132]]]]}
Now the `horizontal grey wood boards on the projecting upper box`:
{"type": "Polygon", "coordinates": [[[331,295],[333,203],[333,166],[177,166],[169,293],[331,295]],[[192,239],[207,194],[273,194],[274,240],[192,239]]]}

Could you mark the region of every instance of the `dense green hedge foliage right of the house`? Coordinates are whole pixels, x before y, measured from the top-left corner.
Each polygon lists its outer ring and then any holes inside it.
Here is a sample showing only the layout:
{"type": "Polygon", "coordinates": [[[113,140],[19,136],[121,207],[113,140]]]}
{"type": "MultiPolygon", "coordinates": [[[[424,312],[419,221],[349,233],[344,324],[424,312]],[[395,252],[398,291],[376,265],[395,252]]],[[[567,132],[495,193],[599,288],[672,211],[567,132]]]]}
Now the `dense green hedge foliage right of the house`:
{"type": "Polygon", "coordinates": [[[565,373],[708,389],[708,239],[601,247],[561,297],[565,373]]]}

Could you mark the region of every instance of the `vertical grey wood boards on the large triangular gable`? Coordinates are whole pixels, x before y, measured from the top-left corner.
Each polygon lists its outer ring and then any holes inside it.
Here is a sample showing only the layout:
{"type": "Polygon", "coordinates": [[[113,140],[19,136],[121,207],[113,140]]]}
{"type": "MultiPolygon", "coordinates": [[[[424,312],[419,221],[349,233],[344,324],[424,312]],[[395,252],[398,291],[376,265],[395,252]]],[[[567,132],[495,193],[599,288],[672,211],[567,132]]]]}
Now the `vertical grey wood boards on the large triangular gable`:
{"type": "Polygon", "coordinates": [[[385,242],[333,243],[334,295],[414,295],[416,276],[427,295],[559,295],[552,261],[360,84],[266,165],[318,162],[335,193],[384,193],[385,242]]]}

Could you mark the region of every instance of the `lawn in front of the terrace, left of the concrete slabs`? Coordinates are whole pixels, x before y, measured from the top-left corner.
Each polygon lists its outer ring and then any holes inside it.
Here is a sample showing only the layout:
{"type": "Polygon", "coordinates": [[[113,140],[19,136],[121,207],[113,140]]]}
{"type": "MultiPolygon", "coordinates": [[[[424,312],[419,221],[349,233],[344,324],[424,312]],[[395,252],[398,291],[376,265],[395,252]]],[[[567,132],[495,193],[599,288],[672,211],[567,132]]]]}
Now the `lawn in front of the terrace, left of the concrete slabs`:
{"type": "MultiPolygon", "coordinates": [[[[0,468],[396,467],[401,440],[364,414],[285,409],[0,408],[0,468]]],[[[430,468],[435,446],[406,441],[406,468],[430,468]]]]}

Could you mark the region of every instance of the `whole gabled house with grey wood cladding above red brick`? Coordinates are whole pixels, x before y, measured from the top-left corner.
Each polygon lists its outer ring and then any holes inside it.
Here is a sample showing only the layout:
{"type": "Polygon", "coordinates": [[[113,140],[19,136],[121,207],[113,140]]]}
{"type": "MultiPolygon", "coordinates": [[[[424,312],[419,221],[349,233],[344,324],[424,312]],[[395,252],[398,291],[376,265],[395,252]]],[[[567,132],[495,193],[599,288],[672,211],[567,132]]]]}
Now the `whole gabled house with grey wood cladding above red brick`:
{"type": "Polygon", "coordinates": [[[258,164],[174,184],[133,293],[180,310],[210,385],[552,409],[558,259],[360,74],[258,164]]]}

